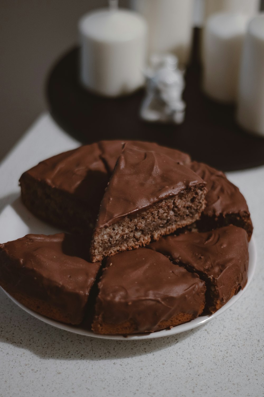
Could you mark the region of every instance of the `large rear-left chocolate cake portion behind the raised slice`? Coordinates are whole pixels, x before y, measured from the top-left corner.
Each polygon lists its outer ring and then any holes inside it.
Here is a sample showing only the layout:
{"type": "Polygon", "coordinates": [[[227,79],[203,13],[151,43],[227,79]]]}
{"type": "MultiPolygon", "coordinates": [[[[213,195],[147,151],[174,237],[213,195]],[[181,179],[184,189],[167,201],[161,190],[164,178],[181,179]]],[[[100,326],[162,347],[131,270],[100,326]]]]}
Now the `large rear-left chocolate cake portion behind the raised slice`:
{"type": "MultiPolygon", "coordinates": [[[[25,206],[38,218],[74,233],[93,230],[122,141],[101,141],[53,156],[23,173],[19,182],[25,206]]],[[[140,148],[165,153],[180,164],[190,156],[148,142],[140,148]]]]}

